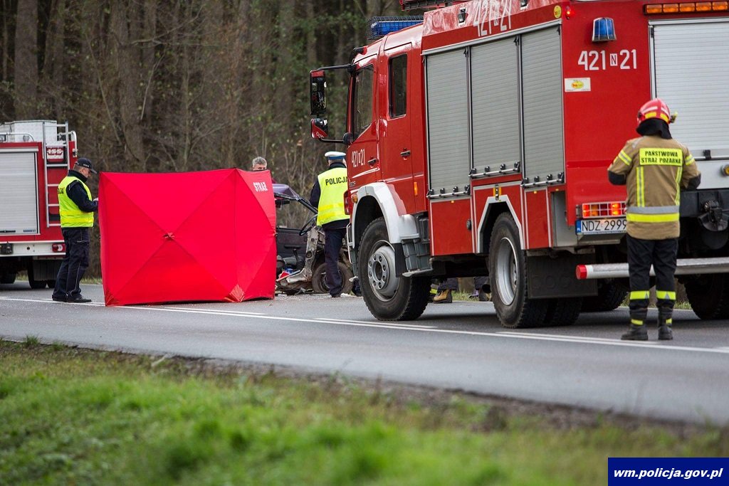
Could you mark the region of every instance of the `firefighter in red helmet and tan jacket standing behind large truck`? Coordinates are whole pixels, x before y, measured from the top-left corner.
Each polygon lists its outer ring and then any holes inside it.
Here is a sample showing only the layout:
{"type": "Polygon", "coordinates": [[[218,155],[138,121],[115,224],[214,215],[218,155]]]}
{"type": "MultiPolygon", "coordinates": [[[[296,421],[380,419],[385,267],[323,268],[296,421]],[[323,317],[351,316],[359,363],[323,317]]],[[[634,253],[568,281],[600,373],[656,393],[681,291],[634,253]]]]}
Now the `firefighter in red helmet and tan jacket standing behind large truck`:
{"type": "Polygon", "coordinates": [[[623,340],[645,341],[648,332],[650,266],[655,270],[658,339],[671,340],[676,300],[674,273],[679,237],[681,189],[695,189],[701,173],[686,146],[671,138],[674,122],[659,98],[638,111],[639,138],[628,140],[608,168],[612,184],[628,187],[625,237],[628,243],[631,324],[623,340]]]}

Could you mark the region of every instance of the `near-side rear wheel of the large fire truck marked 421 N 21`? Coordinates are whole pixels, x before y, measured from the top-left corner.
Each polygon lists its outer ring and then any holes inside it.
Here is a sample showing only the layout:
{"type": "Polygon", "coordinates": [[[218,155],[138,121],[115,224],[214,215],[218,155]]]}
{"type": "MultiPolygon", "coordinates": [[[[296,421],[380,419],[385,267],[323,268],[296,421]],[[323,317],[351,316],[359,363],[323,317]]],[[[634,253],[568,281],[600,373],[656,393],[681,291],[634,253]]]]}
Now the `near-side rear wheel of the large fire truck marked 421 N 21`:
{"type": "Polygon", "coordinates": [[[519,230],[509,213],[500,214],[491,232],[488,270],[491,276],[491,301],[502,326],[513,329],[545,324],[549,302],[526,296],[526,258],[519,241],[519,230]]]}

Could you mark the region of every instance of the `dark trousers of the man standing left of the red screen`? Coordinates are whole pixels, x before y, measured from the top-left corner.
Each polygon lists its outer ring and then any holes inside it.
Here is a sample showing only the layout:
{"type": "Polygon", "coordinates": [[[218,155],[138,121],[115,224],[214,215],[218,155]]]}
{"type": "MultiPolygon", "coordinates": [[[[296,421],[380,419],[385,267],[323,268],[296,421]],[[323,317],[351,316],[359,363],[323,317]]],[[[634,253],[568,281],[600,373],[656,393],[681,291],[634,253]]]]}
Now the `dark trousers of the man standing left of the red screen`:
{"type": "Polygon", "coordinates": [[[55,278],[53,297],[73,300],[81,295],[79,283],[89,266],[89,229],[61,228],[61,232],[66,242],[66,256],[55,278]]]}

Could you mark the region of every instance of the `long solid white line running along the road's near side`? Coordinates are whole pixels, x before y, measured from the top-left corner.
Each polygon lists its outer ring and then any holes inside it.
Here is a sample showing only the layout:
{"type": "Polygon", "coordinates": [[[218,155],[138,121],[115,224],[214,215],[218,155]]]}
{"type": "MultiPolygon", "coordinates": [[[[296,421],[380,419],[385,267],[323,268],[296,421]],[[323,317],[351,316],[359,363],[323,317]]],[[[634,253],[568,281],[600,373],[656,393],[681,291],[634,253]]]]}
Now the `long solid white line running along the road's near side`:
{"type": "MultiPolygon", "coordinates": [[[[21,301],[21,302],[42,302],[44,304],[58,304],[61,302],[52,302],[48,300],[42,300],[42,299],[15,299],[12,297],[0,297],[1,300],[14,300],[14,301],[21,301]]],[[[74,305],[94,305],[94,306],[101,306],[103,304],[96,304],[95,302],[91,304],[74,304],[74,305]]],[[[315,318],[293,318],[293,317],[281,317],[278,315],[245,315],[243,313],[238,313],[235,310],[231,311],[221,311],[221,310],[212,310],[212,309],[186,309],[186,308],[180,308],[180,307],[141,307],[141,306],[123,306],[123,307],[115,307],[117,309],[136,309],[136,310],[157,310],[157,311],[163,311],[163,312],[177,312],[177,313],[193,313],[193,314],[208,314],[208,315],[227,315],[232,317],[250,317],[250,318],[256,318],[256,319],[265,319],[265,320],[272,320],[272,321],[289,321],[289,322],[305,322],[305,323],[312,323],[316,322],[319,324],[334,324],[338,326],[359,326],[359,327],[379,327],[379,328],[385,328],[385,329],[401,329],[403,331],[412,331],[412,332],[437,332],[437,333],[443,333],[443,334],[463,334],[463,335],[469,335],[469,336],[483,336],[483,337],[507,337],[511,339],[525,339],[525,340],[539,340],[539,341],[553,341],[553,342],[572,342],[573,344],[576,342],[584,343],[584,344],[593,344],[593,345],[604,345],[604,346],[621,346],[625,348],[647,348],[647,349],[655,349],[655,350],[675,350],[675,351],[692,351],[696,353],[719,353],[719,354],[729,354],[729,348],[696,348],[693,346],[676,346],[676,345],[657,345],[656,342],[636,342],[636,341],[619,341],[619,340],[609,340],[605,338],[599,338],[599,337],[570,337],[570,336],[562,336],[558,334],[531,334],[526,332],[507,332],[507,331],[499,331],[499,332],[478,332],[478,331],[459,331],[456,329],[434,329],[432,327],[414,327],[413,324],[409,324],[409,327],[405,327],[400,324],[375,324],[375,323],[365,323],[364,321],[330,321],[330,320],[323,320],[323,319],[315,319],[315,318]]]]}

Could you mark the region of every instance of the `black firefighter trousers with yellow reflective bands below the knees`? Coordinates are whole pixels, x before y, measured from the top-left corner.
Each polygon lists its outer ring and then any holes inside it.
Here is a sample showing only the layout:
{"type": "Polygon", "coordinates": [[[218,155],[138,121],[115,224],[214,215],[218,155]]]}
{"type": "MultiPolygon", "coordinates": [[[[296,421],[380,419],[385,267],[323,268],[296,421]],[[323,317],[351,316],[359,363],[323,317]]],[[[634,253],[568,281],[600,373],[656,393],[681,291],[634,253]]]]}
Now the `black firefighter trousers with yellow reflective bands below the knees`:
{"type": "Polygon", "coordinates": [[[655,271],[655,297],[658,325],[671,325],[676,302],[676,256],[678,239],[641,240],[626,236],[628,242],[628,273],[630,275],[631,323],[641,326],[648,313],[650,297],[650,266],[655,271]]]}

